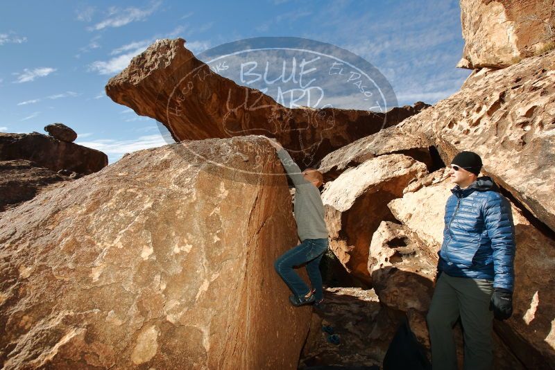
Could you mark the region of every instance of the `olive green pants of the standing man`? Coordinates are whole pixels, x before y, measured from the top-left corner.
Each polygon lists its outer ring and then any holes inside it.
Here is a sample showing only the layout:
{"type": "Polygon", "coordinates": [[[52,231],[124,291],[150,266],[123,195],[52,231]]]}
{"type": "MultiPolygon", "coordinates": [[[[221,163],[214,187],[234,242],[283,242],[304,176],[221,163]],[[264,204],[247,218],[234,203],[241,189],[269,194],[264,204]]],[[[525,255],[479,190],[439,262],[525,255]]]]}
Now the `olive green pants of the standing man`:
{"type": "Polygon", "coordinates": [[[432,369],[456,370],[452,328],[459,316],[463,326],[464,369],[493,367],[493,312],[489,310],[493,281],[439,276],[427,315],[432,344],[432,369]]]}

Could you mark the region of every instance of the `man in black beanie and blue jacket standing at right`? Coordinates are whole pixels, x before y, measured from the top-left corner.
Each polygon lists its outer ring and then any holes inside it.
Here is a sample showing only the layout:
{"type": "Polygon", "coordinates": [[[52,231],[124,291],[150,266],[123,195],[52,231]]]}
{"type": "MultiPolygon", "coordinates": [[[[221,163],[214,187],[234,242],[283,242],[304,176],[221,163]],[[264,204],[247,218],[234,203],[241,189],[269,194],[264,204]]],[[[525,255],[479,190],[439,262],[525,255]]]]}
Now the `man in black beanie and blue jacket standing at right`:
{"type": "Polygon", "coordinates": [[[438,278],[427,315],[434,370],[457,369],[452,328],[459,317],[464,369],[491,369],[493,317],[508,319],[513,312],[511,206],[490,177],[478,177],[481,166],[474,152],[460,152],[451,162],[456,186],[445,206],[438,278]]]}

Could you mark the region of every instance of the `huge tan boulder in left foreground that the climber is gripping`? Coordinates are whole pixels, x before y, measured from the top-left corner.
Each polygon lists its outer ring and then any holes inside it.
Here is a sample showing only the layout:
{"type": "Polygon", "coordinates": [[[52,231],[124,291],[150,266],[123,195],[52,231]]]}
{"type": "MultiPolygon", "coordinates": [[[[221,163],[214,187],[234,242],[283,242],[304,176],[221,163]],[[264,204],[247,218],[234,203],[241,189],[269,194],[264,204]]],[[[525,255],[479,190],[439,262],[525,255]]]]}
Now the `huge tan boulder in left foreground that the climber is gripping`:
{"type": "Polygon", "coordinates": [[[297,238],[270,149],[141,150],[3,213],[2,368],[296,369],[311,309],[273,270],[297,238]]]}

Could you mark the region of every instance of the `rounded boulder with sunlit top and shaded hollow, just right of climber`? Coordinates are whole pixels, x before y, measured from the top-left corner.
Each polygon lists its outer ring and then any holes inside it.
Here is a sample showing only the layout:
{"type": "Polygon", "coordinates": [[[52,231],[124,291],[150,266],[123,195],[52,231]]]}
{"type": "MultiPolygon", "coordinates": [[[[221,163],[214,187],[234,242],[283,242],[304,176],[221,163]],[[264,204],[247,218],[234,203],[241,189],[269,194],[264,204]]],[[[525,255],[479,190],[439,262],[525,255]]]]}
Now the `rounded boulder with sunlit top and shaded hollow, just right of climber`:
{"type": "Polygon", "coordinates": [[[322,193],[330,248],[345,268],[371,285],[368,248],[382,220],[394,220],[387,203],[402,196],[407,185],[427,173],[405,155],[382,155],[345,171],[322,193]]]}

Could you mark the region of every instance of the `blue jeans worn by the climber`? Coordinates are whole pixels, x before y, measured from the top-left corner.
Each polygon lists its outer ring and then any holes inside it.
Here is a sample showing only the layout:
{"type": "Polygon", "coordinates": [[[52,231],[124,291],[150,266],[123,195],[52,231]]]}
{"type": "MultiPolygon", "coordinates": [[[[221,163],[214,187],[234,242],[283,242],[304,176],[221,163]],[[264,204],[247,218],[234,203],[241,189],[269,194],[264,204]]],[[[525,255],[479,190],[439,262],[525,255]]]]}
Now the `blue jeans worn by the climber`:
{"type": "Polygon", "coordinates": [[[322,292],[322,275],[320,274],[320,261],[324,252],[329,245],[327,238],[325,239],[305,239],[296,247],[289,249],[275,260],[275,271],[280,274],[283,281],[287,284],[291,292],[297,297],[302,297],[310,288],[302,281],[300,276],[293,270],[293,267],[307,263],[307,272],[312,288],[316,290],[314,297],[316,301],[323,298],[322,292]]]}

